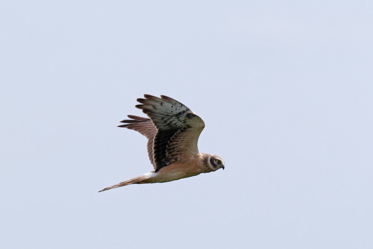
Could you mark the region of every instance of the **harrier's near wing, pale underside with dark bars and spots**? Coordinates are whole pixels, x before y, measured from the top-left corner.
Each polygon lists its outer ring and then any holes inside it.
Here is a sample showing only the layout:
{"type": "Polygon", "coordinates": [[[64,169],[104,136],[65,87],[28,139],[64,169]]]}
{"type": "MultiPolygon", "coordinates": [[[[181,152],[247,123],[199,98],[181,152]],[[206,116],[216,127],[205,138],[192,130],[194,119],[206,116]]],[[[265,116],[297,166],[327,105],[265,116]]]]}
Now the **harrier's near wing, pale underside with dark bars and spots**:
{"type": "Polygon", "coordinates": [[[147,94],[144,97],[137,99],[142,105],[136,107],[148,115],[157,129],[153,138],[155,169],[187,156],[198,155],[198,137],[205,127],[203,120],[170,97],[161,95],[159,98],[147,94]]]}

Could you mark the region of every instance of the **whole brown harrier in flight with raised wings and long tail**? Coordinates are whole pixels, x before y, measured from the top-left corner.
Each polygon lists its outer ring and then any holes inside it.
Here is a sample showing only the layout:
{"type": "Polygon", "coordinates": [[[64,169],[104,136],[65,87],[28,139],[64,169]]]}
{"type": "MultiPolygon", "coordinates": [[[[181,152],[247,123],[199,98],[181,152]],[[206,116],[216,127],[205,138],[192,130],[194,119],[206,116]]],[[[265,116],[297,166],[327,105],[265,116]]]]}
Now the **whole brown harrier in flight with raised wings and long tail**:
{"type": "Polygon", "coordinates": [[[203,120],[188,107],[161,95],[155,97],[144,94],[137,99],[149,118],[128,115],[123,125],[138,131],[148,138],[148,155],[154,170],[128,181],[107,187],[101,191],[142,183],[165,183],[181,178],[224,169],[224,161],[219,156],[199,153],[197,142],[205,127],[203,120]]]}

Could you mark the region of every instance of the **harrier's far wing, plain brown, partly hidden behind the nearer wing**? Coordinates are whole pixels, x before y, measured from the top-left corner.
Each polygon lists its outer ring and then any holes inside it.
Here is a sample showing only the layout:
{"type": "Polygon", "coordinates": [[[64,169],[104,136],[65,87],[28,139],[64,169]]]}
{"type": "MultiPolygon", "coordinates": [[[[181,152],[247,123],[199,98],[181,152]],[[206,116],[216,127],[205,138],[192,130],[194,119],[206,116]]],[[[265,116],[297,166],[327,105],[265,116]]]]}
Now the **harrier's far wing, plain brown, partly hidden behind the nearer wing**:
{"type": "Polygon", "coordinates": [[[153,140],[154,136],[157,133],[157,128],[153,125],[153,123],[148,118],[143,118],[134,115],[128,115],[128,118],[120,122],[126,123],[124,125],[118,125],[118,127],[125,127],[134,131],[140,132],[146,138],[148,138],[148,156],[150,159],[151,164],[153,164],[154,169],[156,169],[156,165],[154,164],[153,160],[153,140]]]}

